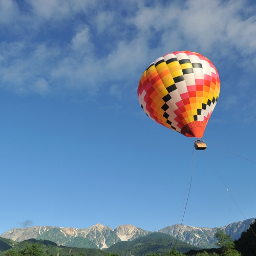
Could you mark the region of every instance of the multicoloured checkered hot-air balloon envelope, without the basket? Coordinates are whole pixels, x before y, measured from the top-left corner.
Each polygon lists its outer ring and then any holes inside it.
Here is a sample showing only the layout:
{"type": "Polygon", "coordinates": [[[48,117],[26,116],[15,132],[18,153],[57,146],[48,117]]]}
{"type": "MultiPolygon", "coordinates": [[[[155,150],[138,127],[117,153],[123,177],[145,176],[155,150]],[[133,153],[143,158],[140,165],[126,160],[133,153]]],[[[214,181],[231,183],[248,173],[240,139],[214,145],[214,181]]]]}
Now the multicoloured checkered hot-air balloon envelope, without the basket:
{"type": "Polygon", "coordinates": [[[138,97],[154,121],[187,137],[202,138],[220,94],[220,78],[211,61],[196,52],[158,58],[142,74],[138,97]]]}

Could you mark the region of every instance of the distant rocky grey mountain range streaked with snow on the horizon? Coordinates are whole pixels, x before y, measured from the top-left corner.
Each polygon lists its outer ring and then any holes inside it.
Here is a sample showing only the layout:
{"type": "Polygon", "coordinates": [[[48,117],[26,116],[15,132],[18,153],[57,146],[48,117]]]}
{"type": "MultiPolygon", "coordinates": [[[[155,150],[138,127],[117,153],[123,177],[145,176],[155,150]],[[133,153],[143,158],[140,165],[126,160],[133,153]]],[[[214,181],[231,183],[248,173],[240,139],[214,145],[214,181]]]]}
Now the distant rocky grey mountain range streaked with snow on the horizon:
{"type": "MultiPolygon", "coordinates": [[[[158,232],[176,237],[179,240],[201,248],[216,247],[214,234],[218,228],[231,234],[233,239],[238,239],[243,231],[249,227],[254,219],[234,222],[223,227],[207,228],[186,225],[172,225],[160,229],[158,232]]],[[[50,240],[58,245],[78,248],[105,249],[121,241],[132,241],[153,233],[133,225],[120,225],[115,229],[100,223],[89,228],[63,228],[51,226],[35,226],[26,228],[12,228],[0,235],[2,238],[22,242],[28,239],[50,240]]]]}

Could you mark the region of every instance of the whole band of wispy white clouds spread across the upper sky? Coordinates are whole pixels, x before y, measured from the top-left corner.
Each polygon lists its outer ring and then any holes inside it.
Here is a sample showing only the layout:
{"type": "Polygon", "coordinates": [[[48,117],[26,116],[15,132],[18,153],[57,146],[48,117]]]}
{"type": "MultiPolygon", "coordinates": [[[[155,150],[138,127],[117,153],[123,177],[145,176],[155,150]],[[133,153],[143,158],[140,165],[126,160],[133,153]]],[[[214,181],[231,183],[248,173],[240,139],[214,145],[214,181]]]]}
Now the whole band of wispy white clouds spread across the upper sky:
{"type": "Polygon", "coordinates": [[[9,33],[0,42],[3,88],[43,95],[104,89],[120,97],[125,90],[117,85],[134,90],[157,57],[191,50],[219,69],[227,105],[242,104],[244,90],[256,92],[256,6],[247,1],[126,0],[106,9],[96,0],[27,0],[23,6],[0,0],[0,6],[0,27],[9,33]]]}

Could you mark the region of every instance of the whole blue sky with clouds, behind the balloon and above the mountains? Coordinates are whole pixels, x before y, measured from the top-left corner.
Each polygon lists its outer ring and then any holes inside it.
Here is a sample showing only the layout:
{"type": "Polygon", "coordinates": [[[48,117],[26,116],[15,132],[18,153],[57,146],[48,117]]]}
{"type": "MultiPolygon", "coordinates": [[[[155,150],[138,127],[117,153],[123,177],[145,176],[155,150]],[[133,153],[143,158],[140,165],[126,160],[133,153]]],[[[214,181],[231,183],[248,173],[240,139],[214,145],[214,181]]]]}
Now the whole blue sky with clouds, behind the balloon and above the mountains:
{"type": "MultiPolygon", "coordinates": [[[[178,223],[193,140],[153,122],[137,86],[158,57],[189,50],[218,69],[204,139],[256,161],[253,1],[0,0],[0,233],[49,225],[159,230],[178,223]]],[[[246,219],[255,164],[208,143],[246,219]]],[[[183,224],[243,220],[197,152],[183,224]]]]}

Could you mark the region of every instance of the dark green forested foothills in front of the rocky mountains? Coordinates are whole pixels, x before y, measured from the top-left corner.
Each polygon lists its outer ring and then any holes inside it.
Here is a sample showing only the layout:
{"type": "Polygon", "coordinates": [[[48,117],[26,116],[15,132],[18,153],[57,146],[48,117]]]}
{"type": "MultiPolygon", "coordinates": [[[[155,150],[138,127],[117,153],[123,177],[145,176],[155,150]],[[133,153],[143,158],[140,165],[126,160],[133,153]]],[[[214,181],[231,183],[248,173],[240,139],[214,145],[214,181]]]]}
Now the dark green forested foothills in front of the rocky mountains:
{"type": "MultiPolygon", "coordinates": [[[[32,253],[32,251],[35,249],[35,247],[32,246],[33,244],[39,244],[41,250],[47,253],[44,255],[54,256],[106,256],[109,252],[115,252],[120,256],[145,256],[148,253],[156,252],[165,255],[174,246],[174,243],[177,250],[181,252],[198,250],[198,248],[193,245],[184,243],[180,240],[176,241],[174,237],[160,232],[153,232],[144,237],[136,238],[133,241],[122,241],[110,246],[105,250],[101,250],[99,248],[59,246],[49,240],[36,240],[34,238],[18,243],[14,242],[13,240],[0,237],[0,242],[3,242],[2,244],[0,243],[0,256],[27,255],[27,253],[25,253],[26,250],[29,251],[29,255],[39,255],[39,253],[36,253],[35,251],[32,253]]],[[[114,255],[116,255],[115,253],[114,255]]]]}

